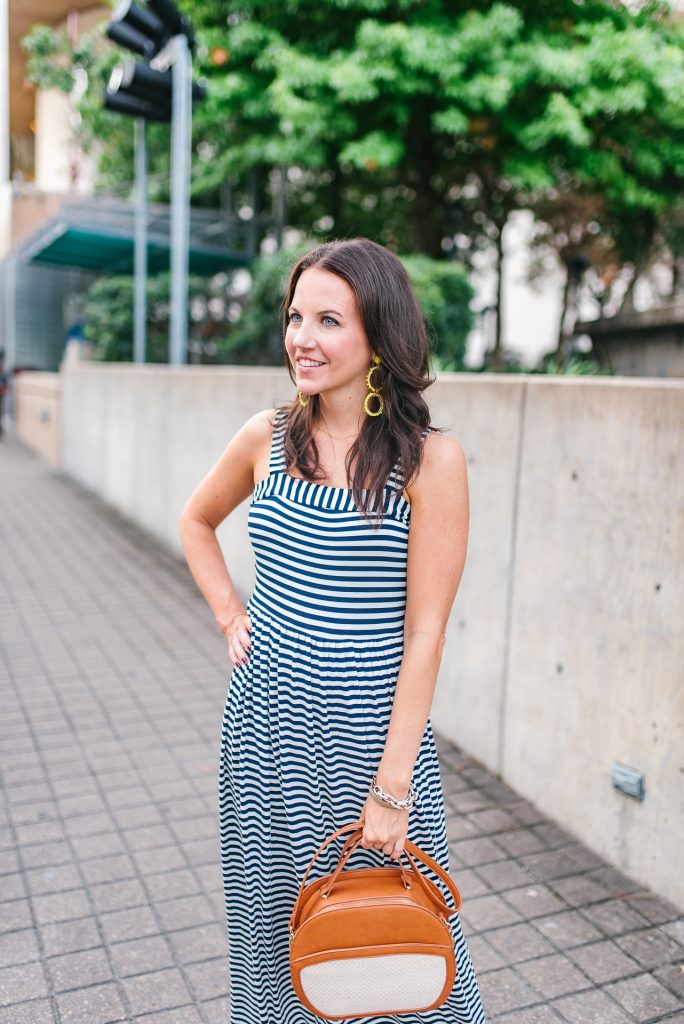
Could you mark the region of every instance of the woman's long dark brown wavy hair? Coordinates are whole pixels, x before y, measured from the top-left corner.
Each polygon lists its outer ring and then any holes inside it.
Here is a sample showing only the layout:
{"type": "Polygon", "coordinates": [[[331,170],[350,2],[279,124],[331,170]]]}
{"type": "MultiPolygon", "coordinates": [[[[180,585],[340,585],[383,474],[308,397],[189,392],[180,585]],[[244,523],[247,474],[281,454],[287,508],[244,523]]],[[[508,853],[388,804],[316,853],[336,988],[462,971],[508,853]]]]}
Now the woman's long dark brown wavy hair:
{"type": "MultiPolygon", "coordinates": [[[[409,275],[396,256],[369,239],[345,239],[316,246],[293,267],[281,310],[284,337],[297,282],[310,267],[336,273],[351,287],[369,344],[381,359],[372,380],[375,387],[382,387],[384,411],[380,416],[366,417],[345,460],[347,479],[356,460],[351,479],[354,502],[369,521],[373,510],[380,525],[385,510],[384,488],[392,468],[398,463],[403,489],[420,465],[421,431],[430,426],[423,391],[435,378],[429,376],[425,324],[409,275]]],[[[285,364],[296,384],[287,350],[285,364]]],[[[375,404],[374,400],[371,408],[375,404]]],[[[306,408],[296,397],[287,408],[287,468],[296,467],[312,481],[325,477],[313,438],[313,429],[319,423],[318,395],[312,394],[306,408]]]]}

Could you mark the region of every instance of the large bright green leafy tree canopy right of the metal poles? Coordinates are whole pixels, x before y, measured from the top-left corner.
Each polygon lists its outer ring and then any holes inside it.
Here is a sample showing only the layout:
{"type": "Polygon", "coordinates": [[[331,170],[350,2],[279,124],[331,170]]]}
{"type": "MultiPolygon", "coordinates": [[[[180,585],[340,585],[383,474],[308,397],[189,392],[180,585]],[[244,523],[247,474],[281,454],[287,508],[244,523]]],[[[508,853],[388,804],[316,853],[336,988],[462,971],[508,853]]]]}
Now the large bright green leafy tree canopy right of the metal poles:
{"type": "MultiPolygon", "coordinates": [[[[597,200],[632,287],[659,240],[681,238],[667,228],[684,183],[684,25],[666,0],[182,6],[209,82],[195,195],[216,203],[229,191],[265,228],[283,188],[287,222],[305,233],[466,261],[493,248],[495,369],[513,211],[597,200]]],[[[130,177],[116,135],[101,144],[114,146],[111,176],[130,177]]]]}

